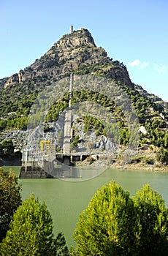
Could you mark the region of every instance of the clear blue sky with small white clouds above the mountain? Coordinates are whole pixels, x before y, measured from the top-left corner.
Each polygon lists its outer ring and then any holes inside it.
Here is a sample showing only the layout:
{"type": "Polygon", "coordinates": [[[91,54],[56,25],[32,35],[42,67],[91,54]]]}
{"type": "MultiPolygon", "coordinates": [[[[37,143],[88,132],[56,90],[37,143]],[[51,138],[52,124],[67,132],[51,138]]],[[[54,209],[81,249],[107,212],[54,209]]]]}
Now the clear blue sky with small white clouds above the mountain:
{"type": "Polygon", "coordinates": [[[91,31],[133,83],[168,102],[167,0],[1,0],[0,78],[39,59],[70,25],[91,31]]]}

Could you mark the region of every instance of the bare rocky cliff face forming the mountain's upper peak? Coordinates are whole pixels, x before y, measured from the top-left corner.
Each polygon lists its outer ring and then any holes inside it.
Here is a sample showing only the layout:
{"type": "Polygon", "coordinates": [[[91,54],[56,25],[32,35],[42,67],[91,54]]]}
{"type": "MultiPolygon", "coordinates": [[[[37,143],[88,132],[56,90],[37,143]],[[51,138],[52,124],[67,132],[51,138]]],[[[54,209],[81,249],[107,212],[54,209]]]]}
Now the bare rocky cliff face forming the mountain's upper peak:
{"type": "MultiPolygon", "coordinates": [[[[122,84],[132,86],[126,67],[119,64],[118,61],[112,61],[103,48],[97,48],[87,29],[79,29],[73,31],[72,34],[64,35],[30,67],[12,75],[4,84],[4,88],[28,80],[34,80],[36,83],[42,82],[42,80],[52,82],[72,71],[77,71],[81,64],[93,66],[104,63],[106,67],[102,73],[116,81],[121,81],[122,84]]],[[[93,74],[93,72],[91,73],[93,74]]]]}

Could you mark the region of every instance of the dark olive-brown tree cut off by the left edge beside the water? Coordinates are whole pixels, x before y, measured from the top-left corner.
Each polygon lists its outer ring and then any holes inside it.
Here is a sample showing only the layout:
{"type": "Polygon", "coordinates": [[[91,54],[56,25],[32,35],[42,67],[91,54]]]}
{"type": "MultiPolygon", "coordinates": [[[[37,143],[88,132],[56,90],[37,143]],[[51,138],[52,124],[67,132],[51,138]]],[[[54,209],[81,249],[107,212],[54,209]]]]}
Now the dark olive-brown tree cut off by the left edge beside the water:
{"type": "Polygon", "coordinates": [[[18,178],[12,169],[0,167],[0,241],[6,236],[12,215],[21,204],[18,178]]]}

